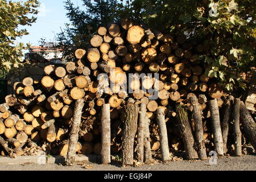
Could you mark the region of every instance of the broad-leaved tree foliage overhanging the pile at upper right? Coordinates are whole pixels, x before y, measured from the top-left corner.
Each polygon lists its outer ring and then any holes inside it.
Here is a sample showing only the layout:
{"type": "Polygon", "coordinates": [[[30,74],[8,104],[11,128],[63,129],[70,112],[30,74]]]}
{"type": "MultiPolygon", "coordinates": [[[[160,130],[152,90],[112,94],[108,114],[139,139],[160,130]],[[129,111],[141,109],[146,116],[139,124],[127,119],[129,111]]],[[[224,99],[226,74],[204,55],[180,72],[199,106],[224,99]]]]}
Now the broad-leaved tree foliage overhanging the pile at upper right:
{"type": "Polygon", "coordinates": [[[134,0],[120,4],[121,16],[139,17],[162,32],[186,32],[187,39],[210,44],[201,56],[207,75],[227,90],[245,88],[243,72],[255,67],[256,2],[252,0],[134,0]]]}

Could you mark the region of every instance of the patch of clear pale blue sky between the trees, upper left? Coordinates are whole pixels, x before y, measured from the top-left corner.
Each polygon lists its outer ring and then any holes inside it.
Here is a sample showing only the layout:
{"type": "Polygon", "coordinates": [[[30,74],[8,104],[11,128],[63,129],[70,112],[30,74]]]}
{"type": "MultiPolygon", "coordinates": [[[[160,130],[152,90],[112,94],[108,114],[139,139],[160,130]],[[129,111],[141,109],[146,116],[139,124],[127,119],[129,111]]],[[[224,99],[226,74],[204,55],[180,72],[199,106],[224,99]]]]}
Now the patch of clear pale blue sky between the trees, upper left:
{"type": "MultiPolygon", "coordinates": [[[[56,34],[61,32],[61,28],[65,28],[65,23],[69,23],[66,17],[67,11],[64,7],[65,0],[39,0],[41,7],[39,7],[39,14],[37,22],[32,26],[23,26],[26,28],[29,35],[18,39],[18,42],[30,43],[32,46],[37,46],[41,38],[45,38],[47,42],[53,42],[56,34]]],[[[81,0],[72,0],[74,5],[81,6],[81,0]]]]}

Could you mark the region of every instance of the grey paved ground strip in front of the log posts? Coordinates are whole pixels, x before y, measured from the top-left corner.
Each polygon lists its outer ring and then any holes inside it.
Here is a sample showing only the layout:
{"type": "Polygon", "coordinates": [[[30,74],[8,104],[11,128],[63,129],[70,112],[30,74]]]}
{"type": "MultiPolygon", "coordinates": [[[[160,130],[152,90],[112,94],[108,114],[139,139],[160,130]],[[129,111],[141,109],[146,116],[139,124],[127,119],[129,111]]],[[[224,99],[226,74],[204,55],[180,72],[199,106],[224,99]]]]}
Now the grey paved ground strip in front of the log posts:
{"type": "Polygon", "coordinates": [[[217,160],[217,165],[209,166],[209,160],[205,161],[174,161],[165,164],[145,165],[140,167],[103,166],[95,163],[86,163],[83,166],[73,167],[60,166],[58,164],[22,164],[1,165],[0,171],[244,171],[256,170],[256,155],[245,155],[241,157],[225,157],[217,160]]]}

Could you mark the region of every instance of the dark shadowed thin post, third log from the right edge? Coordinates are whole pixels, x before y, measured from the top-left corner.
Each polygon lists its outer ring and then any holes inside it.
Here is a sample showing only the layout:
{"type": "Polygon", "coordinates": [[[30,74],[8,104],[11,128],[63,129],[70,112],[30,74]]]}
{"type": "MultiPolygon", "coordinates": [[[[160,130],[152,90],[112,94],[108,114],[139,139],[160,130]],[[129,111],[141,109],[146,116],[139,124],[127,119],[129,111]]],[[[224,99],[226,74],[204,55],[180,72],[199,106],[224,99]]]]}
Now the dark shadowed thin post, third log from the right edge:
{"type": "Polygon", "coordinates": [[[231,119],[231,108],[233,106],[234,97],[229,96],[226,100],[225,107],[223,110],[223,121],[222,121],[222,139],[223,139],[223,153],[227,152],[227,135],[229,134],[229,122],[231,119]]]}

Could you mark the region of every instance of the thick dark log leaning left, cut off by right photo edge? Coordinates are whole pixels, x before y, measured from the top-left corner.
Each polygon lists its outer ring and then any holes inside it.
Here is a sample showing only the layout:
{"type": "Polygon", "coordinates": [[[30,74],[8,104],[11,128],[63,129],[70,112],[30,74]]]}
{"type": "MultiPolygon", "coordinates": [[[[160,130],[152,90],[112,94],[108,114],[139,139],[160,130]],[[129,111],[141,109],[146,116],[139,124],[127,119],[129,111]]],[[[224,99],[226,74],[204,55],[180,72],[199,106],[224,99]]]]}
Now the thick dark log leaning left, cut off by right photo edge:
{"type": "Polygon", "coordinates": [[[242,101],[240,102],[240,117],[246,138],[249,139],[254,150],[256,150],[256,124],[242,101]]]}

